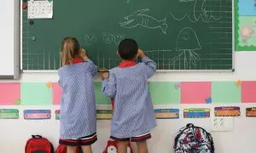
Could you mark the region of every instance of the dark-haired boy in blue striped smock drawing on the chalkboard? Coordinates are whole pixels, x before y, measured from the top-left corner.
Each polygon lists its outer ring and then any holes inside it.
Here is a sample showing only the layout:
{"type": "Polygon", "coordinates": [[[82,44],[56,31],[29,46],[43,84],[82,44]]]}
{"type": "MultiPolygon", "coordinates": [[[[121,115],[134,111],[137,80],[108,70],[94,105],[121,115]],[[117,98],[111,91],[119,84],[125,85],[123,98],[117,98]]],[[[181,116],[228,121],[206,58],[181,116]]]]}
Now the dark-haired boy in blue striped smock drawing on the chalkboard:
{"type": "Polygon", "coordinates": [[[148,78],[154,76],[156,64],[138,49],[137,42],[119,43],[122,62],[102,74],[102,93],[114,99],[111,138],[118,142],[118,153],[126,153],[129,141],[137,143],[138,153],[148,153],[147,139],[156,127],[148,78]],[[137,58],[142,59],[136,63],[137,58]]]}

